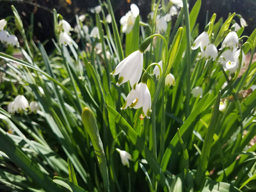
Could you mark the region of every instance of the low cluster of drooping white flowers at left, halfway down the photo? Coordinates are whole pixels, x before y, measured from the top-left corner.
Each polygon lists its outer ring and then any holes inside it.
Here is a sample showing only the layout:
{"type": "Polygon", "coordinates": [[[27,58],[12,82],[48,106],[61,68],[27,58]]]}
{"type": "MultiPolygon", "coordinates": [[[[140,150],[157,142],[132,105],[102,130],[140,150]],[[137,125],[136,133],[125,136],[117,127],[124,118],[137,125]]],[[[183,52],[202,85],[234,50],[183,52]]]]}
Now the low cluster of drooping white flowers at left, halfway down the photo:
{"type": "Polygon", "coordinates": [[[8,113],[23,113],[23,111],[28,111],[30,109],[31,112],[36,113],[40,110],[38,102],[32,101],[30,104],[24,95],[18,95],[15,99],[10,102],[7,106],[8,113]]]}

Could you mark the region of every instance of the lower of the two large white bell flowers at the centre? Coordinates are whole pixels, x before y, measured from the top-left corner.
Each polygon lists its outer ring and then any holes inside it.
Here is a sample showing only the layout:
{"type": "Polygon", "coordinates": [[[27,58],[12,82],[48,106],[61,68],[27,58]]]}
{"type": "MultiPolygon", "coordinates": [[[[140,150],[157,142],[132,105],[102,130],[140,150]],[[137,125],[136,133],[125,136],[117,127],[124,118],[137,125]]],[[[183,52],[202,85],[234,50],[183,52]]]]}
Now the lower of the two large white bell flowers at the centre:
{"type": "Polygon", "coordinates": [[[139,83],[136,85],[135,89],[131,90],[121,109],[126,109],[128,106],[134,109],[140,109],[142,107],[144,114],[147,118],[150,118],[150,113],[152,111],[151,96],[147,84],[139,83]]]}

